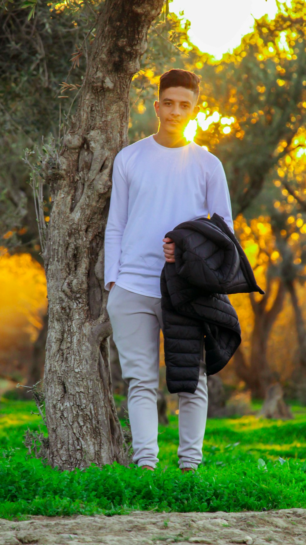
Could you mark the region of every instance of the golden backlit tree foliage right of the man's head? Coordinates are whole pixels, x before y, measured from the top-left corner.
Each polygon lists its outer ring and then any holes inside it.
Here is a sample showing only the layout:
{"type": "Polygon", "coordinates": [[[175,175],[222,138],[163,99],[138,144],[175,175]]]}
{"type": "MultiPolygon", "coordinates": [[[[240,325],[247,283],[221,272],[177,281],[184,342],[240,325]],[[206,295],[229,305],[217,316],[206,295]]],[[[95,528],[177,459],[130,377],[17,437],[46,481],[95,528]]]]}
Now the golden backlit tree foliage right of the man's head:
{"type": "MultiPolygon", "coordinates": [[[[266,15],[255,20],[254,30],[220,62],[211,65],[203,59],[200,98],[210,112],[235,121],[229,135],[222,134],[217,122],[198,131],[197,142],[225,165],[234,217],[270,210],[273,196],[283,189],[273,186],[278,169],[286,156],[293,164],[295,136],[306,119],[304,9],[302,0],[293,0],[287,13],[280,9],[274,20],[266,15]]],[[[194,61],[186,64],[192,69],[194,61]]],[[[295,173],[286,172],[285,180],[292,185],[295,173]]]]}

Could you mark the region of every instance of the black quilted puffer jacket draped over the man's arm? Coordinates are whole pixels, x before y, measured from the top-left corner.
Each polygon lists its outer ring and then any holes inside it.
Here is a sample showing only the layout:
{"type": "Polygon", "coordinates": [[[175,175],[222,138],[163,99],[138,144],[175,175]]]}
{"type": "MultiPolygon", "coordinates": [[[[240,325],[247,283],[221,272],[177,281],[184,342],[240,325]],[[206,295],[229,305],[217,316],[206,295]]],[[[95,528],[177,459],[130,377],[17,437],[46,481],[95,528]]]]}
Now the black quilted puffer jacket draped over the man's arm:
{"type": "Polygon", "coordinates": [[[167,387],[170,393],[194,393],[200,365],[207,376],[217,373],[241,343],[237,313],[227,294],[265,292],[218,214],[180,223],[165,237],[175,243],[175,263],[166,262],[161,272],[167,387]]]}

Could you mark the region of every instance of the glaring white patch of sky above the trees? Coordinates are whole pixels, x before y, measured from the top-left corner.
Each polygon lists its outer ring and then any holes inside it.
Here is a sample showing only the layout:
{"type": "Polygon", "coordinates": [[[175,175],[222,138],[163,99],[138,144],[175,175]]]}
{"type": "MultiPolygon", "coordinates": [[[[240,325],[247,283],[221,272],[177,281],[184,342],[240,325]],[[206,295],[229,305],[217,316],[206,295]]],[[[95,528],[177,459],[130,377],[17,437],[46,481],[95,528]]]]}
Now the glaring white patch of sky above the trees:
{"type": "Polygon", "coordinates": [[[189,38],[202,52],[221,59],[251,31],[254,17],[259,19],[267,14],[274,19],[277,5],[275,0],[173,0],[169,10],[178,15],[183,11],[191,22],[189,38]]]}

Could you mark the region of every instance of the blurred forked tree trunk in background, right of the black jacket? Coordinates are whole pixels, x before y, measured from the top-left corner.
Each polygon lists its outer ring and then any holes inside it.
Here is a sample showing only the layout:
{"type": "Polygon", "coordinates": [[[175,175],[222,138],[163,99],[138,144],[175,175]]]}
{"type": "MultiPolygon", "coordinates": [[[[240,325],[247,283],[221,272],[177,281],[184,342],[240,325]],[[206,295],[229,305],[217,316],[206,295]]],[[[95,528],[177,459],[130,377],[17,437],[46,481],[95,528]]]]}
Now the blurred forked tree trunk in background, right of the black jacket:
{"type": "Polygon", "coordinates": [[[270,310],[267,311],[266,307],[270,289],[271,281],[268,280],[266,294],[259,302],[255,301],[253,293],[249,294],[255,315],[249,365],[246,364],[243,352],[240,348],[236,350],[234,355],[235,371],[238,377],[246,382],[247,386],[252,391],[252,396],[259,398],[265,397],[267,387],[277,378],[272,373],[267,361],[267,347],[272,325],[283,306],[285,296],[284,282],[281,280],[279,281],[276,298],[274,299],[270,310]]]}

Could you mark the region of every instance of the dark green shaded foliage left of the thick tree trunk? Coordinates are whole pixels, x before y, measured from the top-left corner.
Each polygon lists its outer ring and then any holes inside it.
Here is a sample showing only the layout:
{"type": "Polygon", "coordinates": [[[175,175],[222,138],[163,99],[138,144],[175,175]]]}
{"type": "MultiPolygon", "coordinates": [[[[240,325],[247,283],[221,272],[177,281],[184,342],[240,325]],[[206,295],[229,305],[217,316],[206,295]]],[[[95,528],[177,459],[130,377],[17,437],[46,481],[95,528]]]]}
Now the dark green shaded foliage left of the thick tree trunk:
{"type": "MultiPolygon", "coordinates": [[[[22,157],[25,148],[40,148],[42,135],[51,132],[58,141],[63,134],[74,97],[60,100],[59,86],[67,78],[71,55],[88,26],[74,26],[72,10],[54,11],[51,16],[47,2],[38,2],[29,19],[30,8],[23,4],[22,0],[6,2],[0,10],[0,232],[13,232],[2,239],[11,252],[25,245],[39,260],[33,189],[27,184],[29,169],[22,157]]],[[[82,56],[69,83],[77,86],[84,71],[82,56]]],[[[46,201],[47,192],[45,188],[46,201]]]]}

